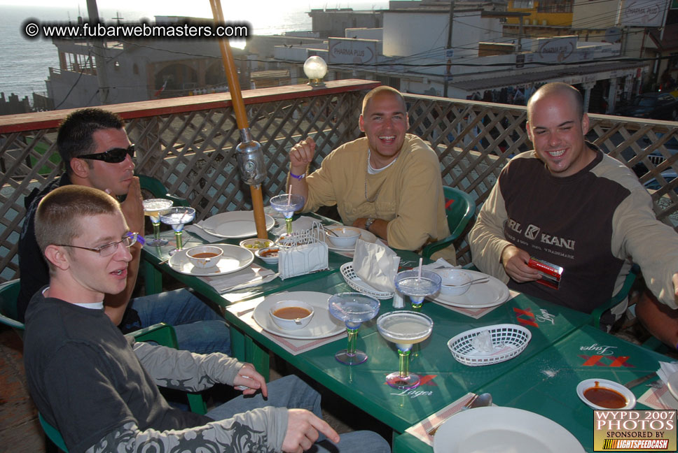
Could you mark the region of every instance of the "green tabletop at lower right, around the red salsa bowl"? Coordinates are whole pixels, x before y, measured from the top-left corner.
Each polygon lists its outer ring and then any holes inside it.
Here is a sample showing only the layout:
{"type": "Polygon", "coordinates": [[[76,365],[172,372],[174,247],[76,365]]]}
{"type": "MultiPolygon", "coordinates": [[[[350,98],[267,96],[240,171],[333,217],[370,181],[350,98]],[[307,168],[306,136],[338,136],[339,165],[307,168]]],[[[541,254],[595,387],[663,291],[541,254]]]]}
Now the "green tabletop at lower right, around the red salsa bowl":
{"type": "MultiPolygon", "coordinates": [[[[628,343],[590,325],[583,325],[550,347],[523,361],[475,391],[492,394],[493,403],[543,415],[572,433],[587,452],[593,452],[593,409],[576,394],[576,386],[590,378],[625,384],[659,369],[663,354],[628,343]]],[[[631,391],[636,398],[648,387],[631,391]]],[[[635,409],[647,409],[637,403],[635,409]]],[[[409,434],[394,440],[394,452],[431,453],[433,449],[409,434]]]]}

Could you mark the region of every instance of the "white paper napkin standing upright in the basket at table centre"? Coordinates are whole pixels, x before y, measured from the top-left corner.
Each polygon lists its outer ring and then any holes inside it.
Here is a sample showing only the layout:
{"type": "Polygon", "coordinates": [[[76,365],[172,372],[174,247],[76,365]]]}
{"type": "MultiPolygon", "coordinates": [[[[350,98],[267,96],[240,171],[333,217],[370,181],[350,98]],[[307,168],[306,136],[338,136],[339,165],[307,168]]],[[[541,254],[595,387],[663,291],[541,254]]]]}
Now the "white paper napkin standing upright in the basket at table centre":
{"type": "Polygon", "coordinates": [[[353,255],[353,270],[368,285],[379,291],[394,292],[400,257],[385,245],[358,239],[353,255]]]}

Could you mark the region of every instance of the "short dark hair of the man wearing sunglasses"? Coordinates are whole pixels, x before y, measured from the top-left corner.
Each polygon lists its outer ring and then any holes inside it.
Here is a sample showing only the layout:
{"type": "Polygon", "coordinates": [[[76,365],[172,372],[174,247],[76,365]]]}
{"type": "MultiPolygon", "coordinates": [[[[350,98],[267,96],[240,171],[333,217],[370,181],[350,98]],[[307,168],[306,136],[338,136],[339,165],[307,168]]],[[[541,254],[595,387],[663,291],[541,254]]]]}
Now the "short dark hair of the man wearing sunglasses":
{"type": "Polygon", "coordinates": [[[101,108],[83,108],[66,117],[59,127],[57,148],[66,172],[71,173],[71,159],[95,152],[93,134],[101,129],[123,129],[125,123],[116,113],[101,108]]]}

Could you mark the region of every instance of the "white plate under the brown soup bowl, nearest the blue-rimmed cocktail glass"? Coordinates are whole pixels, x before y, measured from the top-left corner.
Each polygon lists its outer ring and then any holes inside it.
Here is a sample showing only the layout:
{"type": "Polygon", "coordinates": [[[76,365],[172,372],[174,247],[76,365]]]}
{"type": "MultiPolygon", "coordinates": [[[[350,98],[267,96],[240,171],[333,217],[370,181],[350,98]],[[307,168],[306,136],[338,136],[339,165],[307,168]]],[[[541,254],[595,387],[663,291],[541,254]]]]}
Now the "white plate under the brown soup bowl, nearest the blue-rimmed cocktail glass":
{"type": "Polygon", "coordinates": [[[312,340],[313,338],[333,336],[345,331],[346,326],[343,322],[330,314],[327,302],[331,296],[331,294],[314,291],[293,291],[274,294],[268,296],[256,306],[254,313],[252,313],[252,317],[256,321],[256,324],[259,324],[262,329],[277,336],[294,338],[296,340],[312,340]],[[311,322],[303,329],[286,331],[280,329],[273,323],[268,310],[270,310],[276,302],[286,300],[304,301],[313,305],[313,319],[311,319],[311,322]]]}

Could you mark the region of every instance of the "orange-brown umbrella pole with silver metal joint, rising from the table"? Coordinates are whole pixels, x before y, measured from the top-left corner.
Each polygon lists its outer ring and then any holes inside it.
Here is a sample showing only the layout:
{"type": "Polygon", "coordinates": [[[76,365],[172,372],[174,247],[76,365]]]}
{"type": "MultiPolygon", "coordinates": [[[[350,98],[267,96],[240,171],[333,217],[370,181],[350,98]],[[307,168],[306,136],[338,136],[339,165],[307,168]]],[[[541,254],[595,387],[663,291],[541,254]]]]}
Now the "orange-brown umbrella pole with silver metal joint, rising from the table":
{"type": "MultiPolygon", "coordinates": [[[[209,0],[209,6],[212,6],[212,16],[216,24],[226,22],[223,18],[220,0],[209,0]]],[[[235,110],[235,120],[238,129],[240,129],[240,143],[235,148],[238,170],[242,180],[249,185],[251,192],[256,236],[261,239],[268,239],[266,218],[263,213],[263,196],[261,195],[261,183],[266,179],[263,152],[261,151],[261,145],[257,141],[252,140],[249,131],[245,104],[240,92],[240,82],[237,80],[237,69],[235,68],[235,61],[233,60],[233,53],[230,50],[228,39],[221,38],[219,40],[219,48],[221,49],[221,59],[223,59],[223,69],[226,71],[226,80],[228,80],[230,99],[233,102],[233,110],[235,110]]]]}

